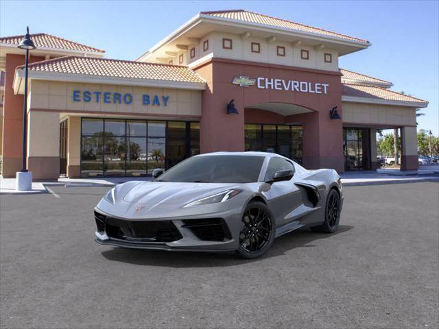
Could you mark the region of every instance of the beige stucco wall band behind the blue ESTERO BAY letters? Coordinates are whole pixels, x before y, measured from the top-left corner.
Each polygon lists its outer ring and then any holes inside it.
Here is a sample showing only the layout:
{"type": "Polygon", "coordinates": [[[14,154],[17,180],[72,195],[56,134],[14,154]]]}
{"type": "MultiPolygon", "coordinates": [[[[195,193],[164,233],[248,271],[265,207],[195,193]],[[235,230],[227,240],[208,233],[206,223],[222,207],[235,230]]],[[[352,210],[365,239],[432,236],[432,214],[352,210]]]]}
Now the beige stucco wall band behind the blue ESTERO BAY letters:
{"type": "Polygon", "coordinates": [[[30,109],[48,109],[60,111],[102,112],[117,114],[158,114],[160,116],[175,114],[177,116],[201,115],[201,91],[169,88],[142,88],[130,86],[114,86],[106,84],[77,84],[70,82],[49,82],[32,80],[30,88],[30,109]],[[105,103],[103,97],[99,101],[73,101],[73,90],[109,93],[130,93],[132,103],[105,103]],[[161,101],[160,106],[143,105],[143,95],[169,97],[167,106],[161,101]]]}

